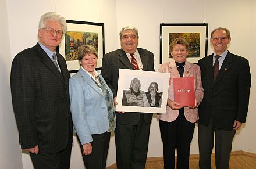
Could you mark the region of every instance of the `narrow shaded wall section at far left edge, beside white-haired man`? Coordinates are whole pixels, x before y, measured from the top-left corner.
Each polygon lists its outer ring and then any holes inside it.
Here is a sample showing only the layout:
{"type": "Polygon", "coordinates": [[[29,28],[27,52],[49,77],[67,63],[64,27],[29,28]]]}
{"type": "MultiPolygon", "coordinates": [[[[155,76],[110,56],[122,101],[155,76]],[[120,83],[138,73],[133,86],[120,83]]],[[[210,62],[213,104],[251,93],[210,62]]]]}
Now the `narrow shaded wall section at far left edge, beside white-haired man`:
{"type": "Polygon", "coordinates": [[[6,1],[0,2],[0,168],[22,168],[18,132],[10,96],[9,27],[6,1]]]}

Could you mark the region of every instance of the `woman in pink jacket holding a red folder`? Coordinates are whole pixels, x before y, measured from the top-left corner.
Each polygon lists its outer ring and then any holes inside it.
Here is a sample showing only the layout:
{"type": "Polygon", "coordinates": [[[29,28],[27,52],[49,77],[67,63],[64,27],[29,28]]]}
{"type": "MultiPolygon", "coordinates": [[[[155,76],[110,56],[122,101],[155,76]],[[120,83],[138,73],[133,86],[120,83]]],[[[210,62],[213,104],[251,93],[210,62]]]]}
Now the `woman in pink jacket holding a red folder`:
{"type": "Polygon", "coordinates": [[[183,38],[176,38],[169,46],[173,59],[159,65],[159,72],[170,73],[166,114],[159,114],[159,125],[163,142],[165,169],[175,168],[175,149],[177,149],[177,169],[189,168],[190,143],[193,138],[195,122],[198,120],[197,107],[204,96],[200,67],[186,61],[189,44],[183,38]],[[173,78],[194,77],[195,106],[182,107],[173,101],[173,78]]]}

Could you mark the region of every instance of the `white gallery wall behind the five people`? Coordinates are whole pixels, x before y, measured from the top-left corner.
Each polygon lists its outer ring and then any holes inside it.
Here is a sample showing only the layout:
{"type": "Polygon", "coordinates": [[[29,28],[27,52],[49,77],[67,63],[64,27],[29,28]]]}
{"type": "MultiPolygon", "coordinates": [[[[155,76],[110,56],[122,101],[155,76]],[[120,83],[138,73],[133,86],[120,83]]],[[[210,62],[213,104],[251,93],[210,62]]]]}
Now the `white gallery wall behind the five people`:
{"type": "MultiPolygon", "coordinates": [[[[53,11],[67,20],[101,22],[105,24],[105,53],[120,48],[119,30],[126,24],[134,24],[140,34],[139,47],[150,50],[155,55],[155,70],[159,65],[159,24],[160,23],[208,23],[209,33],[216,27],[227,27],[231,31],[231,52],[246,57],[250,61],[252,87],[247,122],[237,132],[233,151],[244,150],[256,153],[256,135],[254,134],[256,108],[256,2],[254,0],[227,1],[184,1],[184,0],[2,0],[1,1],[1,82],[0,82],[0,133],[2,135],[1,168],[33,168],[26,152],[20,154],[18,135],[10,100],[10,63],[23,49],[37,42],[38,21],[46,12],[53,11]],[[6,112],[8,116],[6,117],[6,112]],[[15,146],[13,146],[15,145],[15,146]],[[3,150],[2,150],[3,149],[3,150]],[[10,156],[12,152],[12,156],[10,156]],[[14,157],[13,157],[14,156],[14,157]],[[9,164],[8,161],[15,161],[9,164]],[[22,162],[21,162],[22,160],[22,162]],[[21,164],[23,163],[23,164],[21,164]],[[13,166],[12,166],[13,165],[13,166]],[[20,167],[17,167],[20,166],[20,167]]],[[[208,43],[208,54],[212,48],[208,43]]],[[[197,127],[191,143],[190,154],[198,154],[197,127]]],[[[154,116],[150,131],[148,157],[163,156],[159,124],[154,116]]],[[[115,138],[111,137],[107,166],[115,163],[115,138]]],[[[74,137],[70,168],[84,168],[80,149],[74,137]]]]}

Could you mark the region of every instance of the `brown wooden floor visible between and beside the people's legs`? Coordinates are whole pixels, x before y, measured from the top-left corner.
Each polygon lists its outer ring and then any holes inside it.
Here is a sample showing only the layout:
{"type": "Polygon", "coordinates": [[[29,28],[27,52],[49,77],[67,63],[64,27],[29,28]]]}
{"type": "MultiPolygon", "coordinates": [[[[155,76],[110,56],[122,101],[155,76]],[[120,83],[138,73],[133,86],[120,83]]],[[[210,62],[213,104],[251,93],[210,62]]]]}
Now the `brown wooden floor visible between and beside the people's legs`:
{"type": "MultiPolygon", "coordinates": [[[[189,168],[198,169],[198,155],[191,155],[189,168]]],[[[107,167],[107,169],[116,169],[116,165],[107,167]]],[[[145,169],[163,169],[163,157],[148,158],[145,169]]],[[[212,156],[212,169],[215,167],[215,156],[212,156]]],[[[232,152],[230,156],[229,169],[256,169],[256,156],[252,153],[232,152]]]]}

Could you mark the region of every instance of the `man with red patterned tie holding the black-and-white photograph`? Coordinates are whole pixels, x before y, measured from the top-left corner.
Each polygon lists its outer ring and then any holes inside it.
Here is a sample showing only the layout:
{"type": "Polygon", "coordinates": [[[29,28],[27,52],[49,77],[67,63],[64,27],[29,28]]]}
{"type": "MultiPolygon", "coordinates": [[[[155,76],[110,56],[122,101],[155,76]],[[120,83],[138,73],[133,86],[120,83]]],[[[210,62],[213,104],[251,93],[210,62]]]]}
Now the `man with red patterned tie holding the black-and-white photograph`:
{"type": "MultiPolygon", "coordinates": [[[[154,54],[137,48],[138,30],[125,26],[120,31],[122,49],[104,55],[101,75],[113,91],[116,102],[119,69],[154,70],[154,54]]],[[[122,103],[119,103],[122,104],[122,103]]],[[[118,112],[116,114],[116,163],[118,168],[145,168],[152,114],[118,112]]]]}

